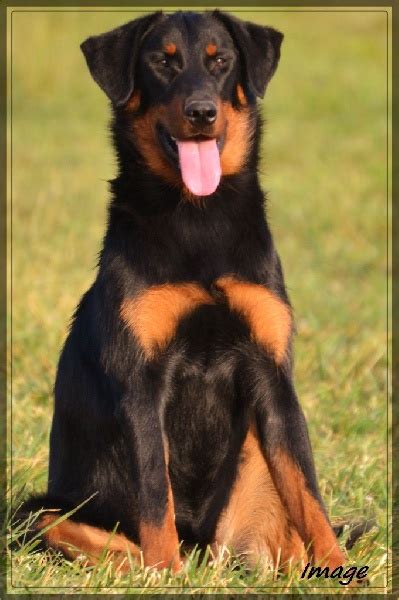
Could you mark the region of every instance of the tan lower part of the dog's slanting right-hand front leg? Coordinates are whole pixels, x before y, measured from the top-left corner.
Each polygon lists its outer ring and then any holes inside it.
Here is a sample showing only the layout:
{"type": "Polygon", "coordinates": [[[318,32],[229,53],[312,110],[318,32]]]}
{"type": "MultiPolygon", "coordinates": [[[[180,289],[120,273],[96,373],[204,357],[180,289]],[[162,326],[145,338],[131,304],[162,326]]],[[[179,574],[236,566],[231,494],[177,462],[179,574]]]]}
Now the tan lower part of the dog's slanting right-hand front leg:
{"type": "Polygon", "coordinates": [[[319,503],[308,491],[302,472],[283,451],[273,458],[275,477],[279,478],[279,489],[287,506],[292,522],[307,544],[314,562],[331,569],[344,565],[346,559],[338,545],[335,534],[320,508],[319,503]]]}

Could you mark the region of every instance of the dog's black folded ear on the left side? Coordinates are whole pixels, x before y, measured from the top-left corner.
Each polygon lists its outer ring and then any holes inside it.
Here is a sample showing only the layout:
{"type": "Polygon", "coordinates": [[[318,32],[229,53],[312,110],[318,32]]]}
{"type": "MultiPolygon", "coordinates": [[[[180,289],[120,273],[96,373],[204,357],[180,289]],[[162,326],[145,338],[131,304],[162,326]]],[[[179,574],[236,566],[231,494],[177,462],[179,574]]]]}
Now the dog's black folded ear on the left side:
{"type": "Polygon", "coordinates": [[[130,21],[112,31],[89,37],[80,48],[90,73],[108,98],[125,104],[133,93],[135,68],[141,42],[162,11],[130,21]]]}

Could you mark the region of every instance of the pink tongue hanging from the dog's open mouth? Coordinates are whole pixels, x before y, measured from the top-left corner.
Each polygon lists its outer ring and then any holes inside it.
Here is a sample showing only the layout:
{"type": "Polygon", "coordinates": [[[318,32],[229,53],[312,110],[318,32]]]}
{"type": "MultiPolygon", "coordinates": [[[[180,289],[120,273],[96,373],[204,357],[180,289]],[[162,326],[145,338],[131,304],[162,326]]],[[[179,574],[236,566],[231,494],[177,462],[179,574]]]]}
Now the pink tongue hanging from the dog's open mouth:
{"type": "Polygon", "coordinates": [[[219,185],[221,169],[216,140],[178,141],[183,181],[196,196],[209,196],[219,185]]]}

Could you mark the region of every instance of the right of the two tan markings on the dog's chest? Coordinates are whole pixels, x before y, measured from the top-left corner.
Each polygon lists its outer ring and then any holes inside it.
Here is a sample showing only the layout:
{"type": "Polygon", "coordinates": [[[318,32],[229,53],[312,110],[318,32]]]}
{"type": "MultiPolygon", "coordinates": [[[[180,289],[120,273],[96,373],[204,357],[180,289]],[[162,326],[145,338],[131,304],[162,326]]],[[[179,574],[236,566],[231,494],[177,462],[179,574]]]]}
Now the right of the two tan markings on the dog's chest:
{"type": "Polygon", "coordinates": [[[259,284],[227,276],[218,279],[216,287],[225,294],[232,310],[246,320],[252,337],[281,363],[292,329],[290,308],[259,284]]]}

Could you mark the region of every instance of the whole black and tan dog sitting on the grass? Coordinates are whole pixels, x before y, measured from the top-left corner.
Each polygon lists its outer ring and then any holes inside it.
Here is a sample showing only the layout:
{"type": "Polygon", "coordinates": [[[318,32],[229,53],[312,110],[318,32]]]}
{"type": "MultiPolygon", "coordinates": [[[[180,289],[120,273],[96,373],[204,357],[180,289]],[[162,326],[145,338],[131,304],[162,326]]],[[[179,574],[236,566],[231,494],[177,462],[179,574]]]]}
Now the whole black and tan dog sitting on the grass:
{"type": "MultiPolygon", "coordinates": [[[[259,185],[282,34],[222,12],[155,13],[82,44],[119,173],[97,278],[55,385],[43,542],[92,562],[179,543],[250,564],[345,562],[292,382],[292,311],[259,185]],[[59,513],[73,516],[49,527],[59,513]],[[110,532],[117,532],[110,538],[110,532]]],[[[76,217],[78,218],[78,216],[76,217]]],[[[125,562],[127,564],[127,562],[125,562]]]]}

